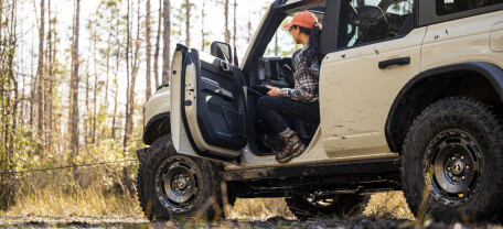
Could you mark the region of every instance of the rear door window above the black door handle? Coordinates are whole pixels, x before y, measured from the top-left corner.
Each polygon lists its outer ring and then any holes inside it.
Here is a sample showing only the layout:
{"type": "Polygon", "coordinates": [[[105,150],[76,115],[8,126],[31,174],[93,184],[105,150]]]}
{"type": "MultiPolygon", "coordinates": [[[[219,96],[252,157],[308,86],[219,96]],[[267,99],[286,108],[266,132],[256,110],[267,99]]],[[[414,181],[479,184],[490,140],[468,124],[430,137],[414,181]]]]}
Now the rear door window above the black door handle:
{"type": "Polygon", "coordinates": [[[410,29],[414,0],[346,0],[341,6],[338,48],[389,39],[410,29]]]}

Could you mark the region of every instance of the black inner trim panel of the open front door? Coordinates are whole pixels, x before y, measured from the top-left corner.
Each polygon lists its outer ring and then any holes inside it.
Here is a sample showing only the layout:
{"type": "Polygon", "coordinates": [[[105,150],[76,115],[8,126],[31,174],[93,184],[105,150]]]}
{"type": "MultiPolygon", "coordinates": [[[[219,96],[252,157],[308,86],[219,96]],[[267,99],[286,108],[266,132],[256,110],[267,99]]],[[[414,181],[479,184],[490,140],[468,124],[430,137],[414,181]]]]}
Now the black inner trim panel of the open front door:
{"type": "Polygon", "coordinates": [[[238,67],[192,50],[196,67],[196,119],[204,141],[239,150],[246,145],[243,77],[238,67]],[[222,67],[224,65],[225,67],[222,67]],[[228,68],[227,68],[228,67],[228,68]],[[225,68],[224,70],[222,68],[225,68]],[[197,73],[199,72],[199,73],[197,73]]]}

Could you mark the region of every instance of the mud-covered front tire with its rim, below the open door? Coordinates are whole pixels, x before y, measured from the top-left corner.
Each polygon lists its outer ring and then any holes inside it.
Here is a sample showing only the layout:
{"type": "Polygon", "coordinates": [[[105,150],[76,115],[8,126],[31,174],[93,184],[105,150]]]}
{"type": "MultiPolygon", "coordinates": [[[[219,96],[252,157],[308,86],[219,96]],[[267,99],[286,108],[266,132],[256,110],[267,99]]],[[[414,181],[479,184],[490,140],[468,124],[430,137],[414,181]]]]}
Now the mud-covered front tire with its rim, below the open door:
{"type": "Polygon", "coordinates": [[[141,157],[137,190],[149,220],[212,219],[222,212],[215,164],[178,154],[169,134],[156,140],[141,157]]]}

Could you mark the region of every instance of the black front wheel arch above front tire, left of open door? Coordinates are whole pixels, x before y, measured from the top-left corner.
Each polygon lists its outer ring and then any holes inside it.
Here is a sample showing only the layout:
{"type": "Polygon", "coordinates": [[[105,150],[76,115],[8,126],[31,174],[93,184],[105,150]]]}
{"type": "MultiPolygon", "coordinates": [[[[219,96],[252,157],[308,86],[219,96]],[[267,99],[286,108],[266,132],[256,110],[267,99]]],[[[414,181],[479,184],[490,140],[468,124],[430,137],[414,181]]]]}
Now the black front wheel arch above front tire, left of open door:
{"type": "Polygon", "coordinates": [[[171,133],[170,111],[153,116],[143,128],[143,143],[151,145],[157,139],[171,133]]]}

